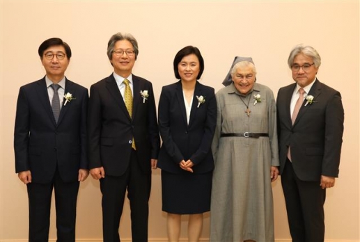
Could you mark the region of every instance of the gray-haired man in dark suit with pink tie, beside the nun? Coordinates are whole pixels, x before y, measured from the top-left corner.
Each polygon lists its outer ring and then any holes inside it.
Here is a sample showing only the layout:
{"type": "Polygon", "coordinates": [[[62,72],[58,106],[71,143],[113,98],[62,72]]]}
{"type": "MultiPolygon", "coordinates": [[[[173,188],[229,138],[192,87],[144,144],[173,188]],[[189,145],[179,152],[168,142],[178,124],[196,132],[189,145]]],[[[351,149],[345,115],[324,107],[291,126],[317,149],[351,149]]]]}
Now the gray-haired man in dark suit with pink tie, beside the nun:
{"type": "Polygon", "coordinates": [[[338,177],[344,110],[340,92],[317,78],[321,58],[298,45],[288,65],[295,83],[277,95],[281,184],[294,242],[324,241],[326,188],[338,177]]]}

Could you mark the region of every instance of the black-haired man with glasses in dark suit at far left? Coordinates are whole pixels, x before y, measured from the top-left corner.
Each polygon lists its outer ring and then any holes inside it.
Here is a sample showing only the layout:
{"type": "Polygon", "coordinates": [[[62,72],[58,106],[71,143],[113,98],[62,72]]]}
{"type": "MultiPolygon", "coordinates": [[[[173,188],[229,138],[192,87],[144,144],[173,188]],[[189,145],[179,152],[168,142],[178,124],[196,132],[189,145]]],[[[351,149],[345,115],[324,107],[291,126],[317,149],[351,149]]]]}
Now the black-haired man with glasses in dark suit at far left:
{"type": "Polygon", "coordinates": [[[54,188],[57,241],[71,242],[79,181],[88,177],[88,90],[65,77],[71,49],[63,40],[45,40],[38,54],[46,75],[19,90],[15,168],[29,195],[29,241],[48,241],[54,188]]]}

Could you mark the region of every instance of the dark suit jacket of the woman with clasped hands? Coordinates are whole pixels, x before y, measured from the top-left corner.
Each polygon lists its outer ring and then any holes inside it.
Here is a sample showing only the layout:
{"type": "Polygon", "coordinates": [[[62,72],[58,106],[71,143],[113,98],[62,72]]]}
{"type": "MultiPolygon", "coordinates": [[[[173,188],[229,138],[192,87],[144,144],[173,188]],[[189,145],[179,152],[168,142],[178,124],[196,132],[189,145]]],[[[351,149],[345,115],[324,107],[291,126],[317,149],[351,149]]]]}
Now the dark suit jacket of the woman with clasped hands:
{"type": "Polygon", "coordinates": [[[214,88],[196,82],[188,125],[181,81],[164,86],[159,100],[159,130],[163,143],[157,166],[168,172],[186,172],[179,163],[190,159],[194,172],[213,170],[211,143],[216,124],[214,88]],[[199,107],[196,95],[205,97],[205,103],[199,107]]]}

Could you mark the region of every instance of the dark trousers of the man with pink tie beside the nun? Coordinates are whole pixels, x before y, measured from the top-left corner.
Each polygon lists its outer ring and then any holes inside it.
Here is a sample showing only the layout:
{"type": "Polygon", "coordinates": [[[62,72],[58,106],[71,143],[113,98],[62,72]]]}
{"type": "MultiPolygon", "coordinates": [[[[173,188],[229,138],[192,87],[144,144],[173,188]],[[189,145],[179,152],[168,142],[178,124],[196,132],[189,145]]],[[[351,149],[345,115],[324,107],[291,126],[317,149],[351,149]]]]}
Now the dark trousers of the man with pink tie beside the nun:
{"type": "Polygon", "coordinates": [[[281,184],[293,242],[323,242],[326,189],[320,181],[301,181],[287,159],[281,184]]]}

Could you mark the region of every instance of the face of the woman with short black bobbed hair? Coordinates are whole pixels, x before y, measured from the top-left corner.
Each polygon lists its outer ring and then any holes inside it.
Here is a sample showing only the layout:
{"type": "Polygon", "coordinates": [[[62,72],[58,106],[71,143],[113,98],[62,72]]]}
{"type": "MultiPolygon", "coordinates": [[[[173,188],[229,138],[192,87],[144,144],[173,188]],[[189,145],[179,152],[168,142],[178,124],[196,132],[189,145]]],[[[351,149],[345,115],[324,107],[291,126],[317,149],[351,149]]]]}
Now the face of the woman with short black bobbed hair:
{"type": "Polygon", "coordinates": [[[178,72],[182,81],[196,81],[200,72],[200,63],[196,54],[184,56],[178,64],[178,72]]]}

